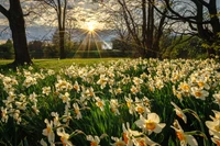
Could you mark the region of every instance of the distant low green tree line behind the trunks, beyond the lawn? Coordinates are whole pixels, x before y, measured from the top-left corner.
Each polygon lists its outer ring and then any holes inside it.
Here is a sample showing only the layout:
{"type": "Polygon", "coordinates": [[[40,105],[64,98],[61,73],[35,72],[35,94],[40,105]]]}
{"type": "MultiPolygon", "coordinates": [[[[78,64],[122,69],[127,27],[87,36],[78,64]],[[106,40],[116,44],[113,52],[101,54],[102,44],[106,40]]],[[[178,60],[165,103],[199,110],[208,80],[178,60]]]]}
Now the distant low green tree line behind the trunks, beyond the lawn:
{"type": "MultiPolygon", "coordinates": [[[[139,50],[133,44],[128,44],[121,40],[111,41],[112,49],[101,48],[101,43],[90,42],[89,49],[82,47],[82,42],[65,43],[66,58],[100,58],[100,57],[139,57],[139,50]]],[[[162,59],[169,58],[206,58],[207,48],[201,47],[202,41],[199,37],[190,36],[163,36],[160,47],[163,49],[162,59]]],[[[28,43],[30,57],[38,58],[59,58],[59,44],[56,40],[53,43],[44,41],[31,41],[28,43]]],[[[0,59],[13,59],[14,49],[11,40],[0,45],[0,59]]]]}

